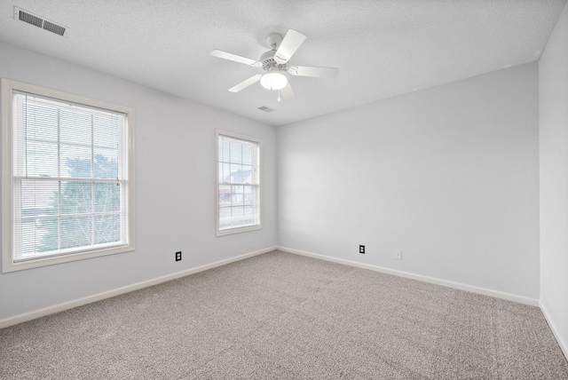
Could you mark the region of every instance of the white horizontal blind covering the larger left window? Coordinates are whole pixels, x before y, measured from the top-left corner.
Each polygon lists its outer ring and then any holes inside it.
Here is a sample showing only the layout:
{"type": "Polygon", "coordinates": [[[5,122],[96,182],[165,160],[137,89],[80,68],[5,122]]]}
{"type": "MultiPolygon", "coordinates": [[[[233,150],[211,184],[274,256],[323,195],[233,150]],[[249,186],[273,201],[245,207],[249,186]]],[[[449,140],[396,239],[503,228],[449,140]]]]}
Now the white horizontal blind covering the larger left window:
{"type": "Polygon", "coordinates": [[[12,97],[13,263],[128,245],[127,115],[12,97]]]}

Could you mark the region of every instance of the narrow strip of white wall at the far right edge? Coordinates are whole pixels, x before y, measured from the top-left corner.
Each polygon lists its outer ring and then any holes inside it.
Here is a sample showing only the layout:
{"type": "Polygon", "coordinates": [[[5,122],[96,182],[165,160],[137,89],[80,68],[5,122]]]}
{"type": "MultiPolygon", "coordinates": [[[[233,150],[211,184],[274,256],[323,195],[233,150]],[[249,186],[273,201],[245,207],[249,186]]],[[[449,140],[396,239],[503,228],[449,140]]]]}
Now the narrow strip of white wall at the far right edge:
{"type": "Polygon", "coordinates": [[[568,356],[568,6],[539,61],[540,305],[568,356]]]}

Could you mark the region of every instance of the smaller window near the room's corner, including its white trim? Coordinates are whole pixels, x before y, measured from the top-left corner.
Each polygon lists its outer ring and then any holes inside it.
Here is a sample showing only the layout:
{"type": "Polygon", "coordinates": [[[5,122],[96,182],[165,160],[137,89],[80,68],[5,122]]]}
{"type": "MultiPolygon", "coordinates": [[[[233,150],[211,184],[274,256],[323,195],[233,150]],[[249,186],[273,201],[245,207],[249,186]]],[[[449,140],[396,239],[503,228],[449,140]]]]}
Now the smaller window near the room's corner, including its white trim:
{"type": "Polygon", "coordinates": [[[259,139],[217,131],[217,236],[262,228],[259,139]]]}

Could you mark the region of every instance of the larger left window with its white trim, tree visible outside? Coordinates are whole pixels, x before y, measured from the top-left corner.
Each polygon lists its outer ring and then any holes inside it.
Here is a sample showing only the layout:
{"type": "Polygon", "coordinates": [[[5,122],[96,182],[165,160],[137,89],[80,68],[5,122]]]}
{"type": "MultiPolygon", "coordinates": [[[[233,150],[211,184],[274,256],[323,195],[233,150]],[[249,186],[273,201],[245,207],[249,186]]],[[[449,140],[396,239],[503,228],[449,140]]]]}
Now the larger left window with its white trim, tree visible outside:
{"type": "Polygon", "coordinates": [[[134,111],[2,80],[3,272],[134,249],[134,111]]]}

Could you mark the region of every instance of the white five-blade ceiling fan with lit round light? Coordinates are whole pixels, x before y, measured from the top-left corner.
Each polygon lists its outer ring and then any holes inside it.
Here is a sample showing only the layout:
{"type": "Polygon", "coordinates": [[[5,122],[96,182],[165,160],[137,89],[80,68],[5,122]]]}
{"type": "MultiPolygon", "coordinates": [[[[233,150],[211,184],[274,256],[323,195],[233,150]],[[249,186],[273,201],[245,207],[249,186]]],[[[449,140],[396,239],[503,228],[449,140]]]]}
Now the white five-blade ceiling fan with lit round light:
{"type": "Polygon", "coordinates": [[[241,57],[240,55],[217,49],[211,51],[209,54],[214,57],[244,63],[252,67],[263,68],[264,74],[252,75],[247,80],[231,87],[229,91],[239,92],[251,84],[260,81],[260,84],[265,89],[277,90],[278,101],[280,101],[280,94],[284,99],[291,99],[295,96],[285,73],[317,78],[335,78],[339,73],[339,68],[335,67],[291,66],[289,60],[300,45],[304,43],[304,40],[305,36],[294,29],[289,29],[283,39],[278,33],[271,33],[266,36],[266,43],[268,43],[272,50],[266,51],[258,60],[241,57]]]}

